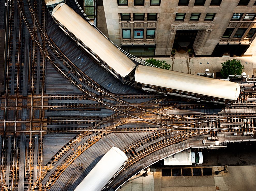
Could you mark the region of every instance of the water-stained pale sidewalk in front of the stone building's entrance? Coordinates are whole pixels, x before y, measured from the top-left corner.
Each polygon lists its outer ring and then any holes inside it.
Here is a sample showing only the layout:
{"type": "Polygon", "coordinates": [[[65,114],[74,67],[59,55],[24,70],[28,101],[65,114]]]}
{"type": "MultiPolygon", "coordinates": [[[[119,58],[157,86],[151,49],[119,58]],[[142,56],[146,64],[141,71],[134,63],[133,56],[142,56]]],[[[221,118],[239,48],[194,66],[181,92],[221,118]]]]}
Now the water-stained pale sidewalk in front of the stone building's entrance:
{"type": "MultiPolygon", "coordinates": [[[[175,56],[158,58],[156,60],[165,60],[167,64],[170,64],[170,70],[184,72],[188,74],[205,73],[205,69],[209,69],[209,73],[214,73],[214,78],[216,78],[216,72],[220,72],[222,65],[221,63],[226,60],[237,59],[241,61],[244,65],[244,70],[249,77],[252,75],[256,76],[256,56],[242,56],[242,57],[189,57],[186,52],[180,54],[176,51],[175,56]]],[[[143,58],[146,60],[148,58],[143,58]]]]}

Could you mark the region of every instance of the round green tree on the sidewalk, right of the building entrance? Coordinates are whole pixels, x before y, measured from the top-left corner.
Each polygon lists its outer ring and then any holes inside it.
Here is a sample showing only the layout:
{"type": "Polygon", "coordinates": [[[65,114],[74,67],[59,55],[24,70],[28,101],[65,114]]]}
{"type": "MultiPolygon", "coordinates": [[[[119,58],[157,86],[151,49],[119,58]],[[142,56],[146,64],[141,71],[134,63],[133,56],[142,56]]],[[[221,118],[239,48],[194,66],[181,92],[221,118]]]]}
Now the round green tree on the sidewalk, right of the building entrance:
{"type": "Polygon", "coordinates": [[[221,63],[221,74],[223,77],[228,77],[228,75],[241,75],[244,65],[241,64],[240,60],[232,59],[221,63]]]}

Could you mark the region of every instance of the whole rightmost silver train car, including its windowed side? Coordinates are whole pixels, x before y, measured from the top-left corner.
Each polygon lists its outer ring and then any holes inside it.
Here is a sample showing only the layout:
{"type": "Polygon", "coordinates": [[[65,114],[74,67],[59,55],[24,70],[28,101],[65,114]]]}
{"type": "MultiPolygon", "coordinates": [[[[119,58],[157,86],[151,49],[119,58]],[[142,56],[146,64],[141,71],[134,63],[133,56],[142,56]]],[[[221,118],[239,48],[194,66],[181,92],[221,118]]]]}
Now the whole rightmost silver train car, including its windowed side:
{"type": "Polygon", "coordinates": [[[238,83],[139,65],[135,86],[148,92],[197,101],[232,104],[240,94],[238,83]]]}

